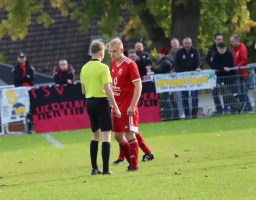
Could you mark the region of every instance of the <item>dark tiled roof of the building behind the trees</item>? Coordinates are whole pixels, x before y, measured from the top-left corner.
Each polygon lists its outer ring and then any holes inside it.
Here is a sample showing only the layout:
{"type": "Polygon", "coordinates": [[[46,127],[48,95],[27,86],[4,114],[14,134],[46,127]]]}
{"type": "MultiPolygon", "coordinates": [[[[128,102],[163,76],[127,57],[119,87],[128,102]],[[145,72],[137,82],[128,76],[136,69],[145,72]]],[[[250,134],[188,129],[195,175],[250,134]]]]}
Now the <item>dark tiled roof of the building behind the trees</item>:
{"type": "MultiPolygon", "coordinates": [[[[80,68],[90,59],[88,50],[91,40],[101,37],[97,32],[98,19],[92,21],[88,31],[79,31],[76,21],[72,21],[69,17],[62,17],[60,11],[52,8],[49,2],[45,3],[44,9],[54,17],[56,20],[54,24],[45,28],[42,24],[38,24],[36,16],[33,16],[29,34],[25,39],[12,41],[10,36],[3,37],[0,41],[0,52],[14,63],[18,54],[21,51],[25,52],[37,71],[42,71],[45,66],[49,66],[50,73],[58,60],[64,58],[75,67],[78,75],[80,68]]],[[[124,21],[118,27],[119,33],[130,19],[128,11],[122,14],[124,21]]],[[[0,19],[6,17],[7,13],[1,10],[0,19]]],[[[136,41],[136,39],[125,41],[124,48],[133,48],[136,41]]]]}

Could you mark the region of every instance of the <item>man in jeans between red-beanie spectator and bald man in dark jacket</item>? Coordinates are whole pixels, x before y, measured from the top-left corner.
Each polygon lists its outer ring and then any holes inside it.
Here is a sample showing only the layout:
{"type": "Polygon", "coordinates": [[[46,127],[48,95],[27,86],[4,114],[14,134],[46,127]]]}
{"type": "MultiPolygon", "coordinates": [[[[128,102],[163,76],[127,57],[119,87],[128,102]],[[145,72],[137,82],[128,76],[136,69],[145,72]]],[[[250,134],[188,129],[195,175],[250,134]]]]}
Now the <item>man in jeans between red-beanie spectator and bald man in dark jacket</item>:
{"type": "MultiPolygon", "coordinates": [[[[177,38],[172,38],[172,40],[171,40],[171,51],[169,53],[172,62],[174,62],[175,55],[176,55],[177,51],[181,48],[183,48],[183,46],[180,45],[179,40],[177,38]]],[[[172,93],[173,93],[174,100],[178,103],[180,117],[185,118],[181,91],[175,91],[175,92],[172,92],[172,93]]]]}

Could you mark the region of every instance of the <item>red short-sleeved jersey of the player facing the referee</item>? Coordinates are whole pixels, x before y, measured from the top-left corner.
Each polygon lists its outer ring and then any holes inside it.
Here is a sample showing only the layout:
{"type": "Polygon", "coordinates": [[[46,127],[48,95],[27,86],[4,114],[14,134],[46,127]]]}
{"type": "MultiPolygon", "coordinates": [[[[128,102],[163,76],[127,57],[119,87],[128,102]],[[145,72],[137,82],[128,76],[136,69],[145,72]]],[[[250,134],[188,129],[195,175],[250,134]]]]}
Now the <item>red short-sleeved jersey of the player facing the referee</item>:
{"type": "MultiPolygon", "coordinates": [[[[125,57],[120,64],[112,61],[111,76],[114,99],[119,110],[129,108],[134,97],[135,85],[133,82],[141,79],[138,65],[128,57],[125,57]]],[[[138,109],[137,106],[136,109],[138,109]]]]}

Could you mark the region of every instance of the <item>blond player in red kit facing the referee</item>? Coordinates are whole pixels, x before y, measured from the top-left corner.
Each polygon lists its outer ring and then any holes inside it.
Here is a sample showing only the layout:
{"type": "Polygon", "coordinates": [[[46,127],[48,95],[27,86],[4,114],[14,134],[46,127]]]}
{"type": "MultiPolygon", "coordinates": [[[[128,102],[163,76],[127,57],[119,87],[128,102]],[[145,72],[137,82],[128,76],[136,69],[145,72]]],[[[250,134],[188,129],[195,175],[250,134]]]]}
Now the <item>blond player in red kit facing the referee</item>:
{"type": "MultiPolygon", "coordinates": [[[[117,105],[122,112],[120,118],[113,117],[114,138],[119,143],[126,160],[130,163],[127,171],[137,171],[139,170],[139,143],[136,133],[139,126],[138,101],[142,92],[142,81],[137,64],[124,56],[123,44],[120,39],[110,41],[108,50],[113,60],[111,62],[112,89],[117,105]]],[[[114,113],[115,109],[112,116],[114,113]]],[[[141,134],[139,135],[141,136],[141,134]]],[[[153,153],[151,150],[149,151],[149,153],[153,153]]]]}

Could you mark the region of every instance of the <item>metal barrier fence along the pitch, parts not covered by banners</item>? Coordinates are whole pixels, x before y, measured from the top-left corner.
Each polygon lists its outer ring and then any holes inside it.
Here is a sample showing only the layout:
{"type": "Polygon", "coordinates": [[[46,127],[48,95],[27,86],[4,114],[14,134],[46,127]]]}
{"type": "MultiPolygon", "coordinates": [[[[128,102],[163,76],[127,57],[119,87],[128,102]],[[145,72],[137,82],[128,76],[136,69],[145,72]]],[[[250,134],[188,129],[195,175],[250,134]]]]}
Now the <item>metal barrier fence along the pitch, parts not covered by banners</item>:
{"type": "MultiPolygon", "coordinates": [[[[221,76],[223,72],[216,71],[217,86],[213,89],[160,93],[162,120],[253,112],[256,105],[256,76],[254,67],[256,67],[256,64],[230,68],[230,71],[249,69],[250,72],[243,75],[233,75],[230,72],[229,74],[221,76]]],[[[38,87],[42,85],[44,84],[35,86],[38,87]]],[[[27,117],[25,124],[24,121],[21,120],[9,123],[5,127],[1,127],[0,130],[2,131],[0,134],[4,134],[5,132],[33,132],[34,125],[33,122],[31,122],[31,118],[27,117]]]]}

